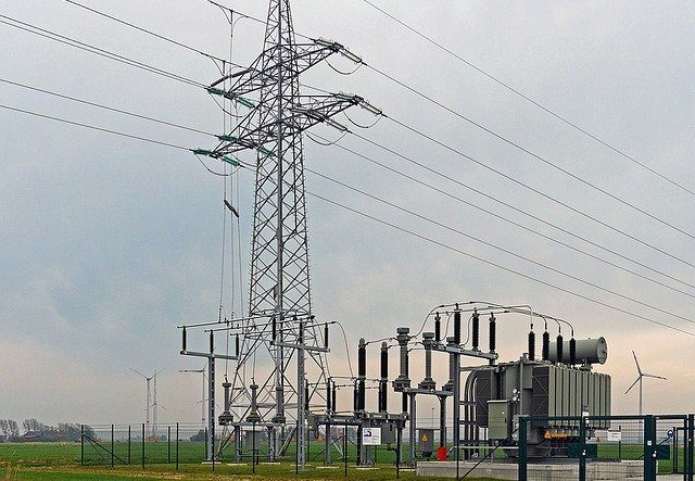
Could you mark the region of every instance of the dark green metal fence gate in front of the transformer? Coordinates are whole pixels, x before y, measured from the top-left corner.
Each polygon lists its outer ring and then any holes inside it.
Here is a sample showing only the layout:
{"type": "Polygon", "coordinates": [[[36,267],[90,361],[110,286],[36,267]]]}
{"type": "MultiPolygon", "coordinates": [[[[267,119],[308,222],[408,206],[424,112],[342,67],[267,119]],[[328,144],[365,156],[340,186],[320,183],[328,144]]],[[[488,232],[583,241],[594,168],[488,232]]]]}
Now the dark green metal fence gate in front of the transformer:
{"type": "Polygon", "coordinates": [[[519,480],[693,481],[693,415],[518,421],[519,480]]]}

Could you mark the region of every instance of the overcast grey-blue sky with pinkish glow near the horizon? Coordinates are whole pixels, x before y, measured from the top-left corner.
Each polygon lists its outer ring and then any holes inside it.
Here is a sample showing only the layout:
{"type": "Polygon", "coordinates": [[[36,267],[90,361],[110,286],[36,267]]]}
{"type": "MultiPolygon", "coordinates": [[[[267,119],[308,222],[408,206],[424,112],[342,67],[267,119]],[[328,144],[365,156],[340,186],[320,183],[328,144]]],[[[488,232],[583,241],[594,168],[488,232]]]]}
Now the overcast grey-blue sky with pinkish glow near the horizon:
{"type": "MultiPolygon", "coordinates": [[[[229,53],[229,27],[203,0],[92,1],[86,4],[216,55],[229,53]]],[[[375,0],[463,58],[598,134],[648,166],[695,189],[695,5],[692,2],[482,2],[375,0]]],[[[264,17],[265,1],[227,0],[264,17]]],[[[219,74],[208,59],[98,17],[59,0],[3,0],[2,14],[75,37],[201,83],[219,74]]],[[[693,195],[648,174],[447,56],[361,0],[292,2],[298,31],[341,41],[364,60],[561,167],[695,232],[693,195]]],[[[250,63],[262,26],[240,21],[233,61],[250,63]]],[[[174,123],[218,132],[223,117],[199,88],[0,25],[0,77],[174,123]]],[[[336,60],[336,66],[350,68],[336,60]]],[[[368,68],[341,76],[319,66],[303,81],[364,96],[406,122],[486,164],[577,206],[686,262],[693,239],[669,229],[368,68]]],[[[105,113],[0,84],[2,104],[187,147],[205,136],[105,113]]],[[[363,117],[359,117],[361,119],[363,117]]],[[[364,117],[367,118],[367,117],[364,117]]],[[[342,122],[345,122],[344,119],[342,122]]],[[[178,355],[175,327],[216,319],[222,236],[222,181],[182,151],[0,110],[0,417],[111,422],[142,419],[139,370],[160,377],[163,421],[198,420],[198,368],[178,355]]],[[[333,138],[330,130],[318,130],[333,138]]],[[[441,147],[382,121],[365,136],[688,283],[693,267],[515,186],[441,147]]],[[[500,215],[691,295],[695,289],[635,267],[492,201],[443,181],[348,136],[342,143],[500,215]]],[[[573,276],[695,318],[692,296],[675,293],[573,253],[437,192],[365,163],[337,147],[306,141],[306,165],[413,208],[437,221],[563,269],[573,276]]],[[[240,175],[242,276],[248,281],[253,177],[240,175]]],[[[307,175],[308,189],[620,308],[695,332],[674,318],[616,298],[454,232],[408,217],[307,175]]],[[[647,382],[645,409],[692,410],[693,338],[538,284],[334,206],[308,199],[313,299],[319,317],[340,319],[352,345],[400,325],[419,326],[431,307],[483,299],[531,304],[571,320],[577,336],[605,336],[614,377],[614,410],[636,410],[634,349],[647,382]]],[[[501,358],[525,350],[526,322],[498,327],[501,358]]],[[[333,339],[339,340],[338,333],[333,339]]],[[[194,340],[192,342],[195,342],[194,340]]],[[[202,341],[201,341],[202,342],[202,341]]],[[[344,350],[331,353],[346,372],[344,350]]],[[[372,366],[376,367],[376,366],[372,366]]],[[[443,381],[444,374],[439,374],[443,381]]],[[[349,406],[349,396],[341,396],[349,406]]],[[[371,400],[376,404],[376,400],[371,400]]],[[[371,402],[370,401],[370,402],[371,402]]]]}

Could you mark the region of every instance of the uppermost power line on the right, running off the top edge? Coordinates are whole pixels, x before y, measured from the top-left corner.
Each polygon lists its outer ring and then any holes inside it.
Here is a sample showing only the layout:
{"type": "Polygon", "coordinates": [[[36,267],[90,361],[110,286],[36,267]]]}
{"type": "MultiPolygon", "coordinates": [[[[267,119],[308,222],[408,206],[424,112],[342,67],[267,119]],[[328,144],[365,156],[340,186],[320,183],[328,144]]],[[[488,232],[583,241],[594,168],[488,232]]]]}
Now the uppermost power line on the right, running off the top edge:
{"type": "Polygon", "coordinates": [[[464,64],[468,65],[469,67],[473,68],[475,71],[479,72],[480,74],[484,75],[485,77],[488,77],[489,79],[491,79],[492,81],[501,85],[502,87],[504,87],[505,89],[509,90],[510,92],[515,93],[516,96],[520,97],[521,99],[526,100],[527,102],[531,103],[532,105],[541,109],[542,111],[544,111],[545,113],[552,115],[553,117],[557,118],[558,121],[569,125],[570,127],[572,127],[573,129],[580,131],[581,134],[584,134],[585,136],[587,136],[589,138],[595,140],[596,142],[601,143],[602,145],[608,148],[609,150],[611,150],[612,152],[617,153],[618,155],[629,160],[630,162],[641,166],[642,168],[644,168],[645,170],[648,170],[649,173],[654,174],[655,176],[666,180],[667,182],[678,187],[679,189],[695,195],[695,191],[693,191],[692,189],[688,189],[687,187],[683,186],[682,183],[678,182],[677,180],[666,176],[665,174],[661,174],[660,172],[656,170],[654,167],[649,167],[648,165],[646,165],[644,162],[633,157],[632,155],[626,153],[624,151],[618,149],[617,147],[614,147],[612,144],[608,143],[608,141],[603,140],[602,138],[599,138],[596,134],[592,134],[589,130],[584,129],[583,127],[581,127],[579,124],[570,121],[569,118],[565,117],[564,115],[558,114],[557,112],[553,111],[552,109],[543,105],[541,102],[533,100],[532,98],[530,98],[529,96],[527,96],[526,93],[521,92],[520,90],[511,87],[509,84],[501,80],[500,78],[493,76],[491,73],[486,72],[485,69],[483,69],[482,67],[479,67],[478,65],[473,64],[472,62],[464,59],[463,56],[458,55],[457,53],[455,53],[454,51],[452,51],[451,49],[448,49],[447,47],[445,47],[444,45],[440,43],[439,41],[432,39],[431,37],[428,37],[427,35],[422,34],[421,31],[417,30],[415,27],[406,24],[405,22],[403,22],[402,20],[397,18],[396,16],[392,15],[391,13],[384,11],[383,9],[377,7],[376,4],[374,4],[372,2],[370,2],[369,0],[363,0],[365,3],[369,4],[370,7],[372,7],[374,9],[378,10],[379,12],[381,12],[382,14],[384,14],[386,16],[388,16],[389,18],[393,20],[394,22],[399,23],[400,25],[402,25],[403,27],[407,28],[408,30],[410,30],[412,33],[414,33],[415,35],[417,35],[418,37],[427,40],[428,42],[432,43],[433,46],[438,47],[439,49],[441,49],[442,51],[446,52],[447,54],[452,55],[453,58],[459,60],[460,62],[463,62],[464,64]]]}

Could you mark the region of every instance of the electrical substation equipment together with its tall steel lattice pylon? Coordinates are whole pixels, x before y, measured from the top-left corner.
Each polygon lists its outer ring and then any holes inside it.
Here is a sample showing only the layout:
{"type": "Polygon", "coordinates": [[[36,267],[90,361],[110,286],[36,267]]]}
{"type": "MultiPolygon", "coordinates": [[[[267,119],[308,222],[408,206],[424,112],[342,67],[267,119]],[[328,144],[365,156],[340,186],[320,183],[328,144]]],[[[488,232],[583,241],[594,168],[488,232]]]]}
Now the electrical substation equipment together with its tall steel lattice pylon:
{"type": "MultiPolygon", "coordinates": [[[[584,422],[610,416],[610,377],[594,371],[607,360],[607,344],[599,336],[576,339],[571,324],[529,306],[441,304],[417,331],[402,326],[388,339],[362,338],[351,350],[357,355],[356,376],[329,375],[329,330],[338,322],[321,320],[312,309],[302,135],[317,124],[348,130],[332,117],[349,109],[384,115],[356,94],[317,88],[312,89],[320,94],[300,92],[300,74],[332,55],[362,62],[332,40],[298,42],[289,1],[271,0],[263,52],[248,67],[223,72],[207,89],[247,112],[215,148],[194,153],[232,168],[249,168],[236,156],[239,152],[256,156],[248,315],[228,316],[220,307],[216,321],[179,326],[181,354],[207,359],[208,461],[249,456],[254,464],[261,456],[276,461],[294,443],[294,461],[303,469],[309,440],[320,436],[329,466],[331,455],[344,457],[352,429],[359,466],[375,465],[375,446],[386,445],[395,452],[397,467],[414,468],[437,456],[458,470],[459,461],[478,457],[481,448],[501,450],[507,461],[517,458],[520,417],[547,418],[527,427],[525,456],[567,459],[580,438],[609,428],[605,420],[584,422]],[[497,330],[518,332],[518,321],[507,319],[519,316],[528,320],[528,350],[517,360],[501,363],[497,330]],[[208,349],[190,350],[191,336],[197,342],[208,338],[208,349]],[[374,352],[368,355],[368,350],[374,352]],[[390,350],[397,351],[397,369],[390,366],[390,350]],[[379,359],[378,379],[367,378],[369,358],[379,359]],[[222,384],[222,414],[215,413],[216,360],[233,365],[222,384]],[[448,366],[446,379],[433,379],[435,362],[448,366]],[[410,377],[416,365],[424,366],[421,380],[410,377]],[[371,384],[374,404],[367,400],[371,384]],[[339,389],[352,390],[352,406],[338,405],[339,389]],[[401,397],[400,405],[389,405],[392,393],[401,397]],[[425,397],[439,406],[439,428],[418,426],[418,404],[425,397]],[[343,429],[342,436],[331,434],[334,428],[343,429]]],[[[225,205],[238,219],[237,206],[227,199],[225,205]]]]}

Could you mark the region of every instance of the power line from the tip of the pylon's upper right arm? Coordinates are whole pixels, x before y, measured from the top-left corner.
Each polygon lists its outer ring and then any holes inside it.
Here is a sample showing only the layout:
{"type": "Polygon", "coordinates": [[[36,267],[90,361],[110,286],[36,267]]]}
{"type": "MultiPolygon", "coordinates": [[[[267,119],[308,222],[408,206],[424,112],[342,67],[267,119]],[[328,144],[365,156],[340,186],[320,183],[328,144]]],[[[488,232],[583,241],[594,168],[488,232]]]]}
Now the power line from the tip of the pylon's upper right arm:
{"type": "Polygon", "coordinates": [[[640,214],[645,215],[648,218],[650,218],[653,220],[656,220],[657,223],[659,223],[659,224],[661,224],[664,226],[667,226],[667,227],[669,227],[669,228],[671,228],[671,229],[673,229],[673,230],[675,230],[675,231],[678,231],[678,232],[680,232],[680,233],[682,233],[684,236],[687,236],[691,239],[695,239],[695,236],[693,236],[692,233],[687,232],[686,230],[683,230],[682,228],[680,228],[680,227],[678,227],[678,226],[675,226],[675,225],[673,225],[673,224],[671,224],[671,223],[669,223],[667,220],[664,220],[662,218],[660,218],[660,217],[658,217],[658,216],[645,211],[644,208],[639,207],[637,205],[634,205],[633,203],[628,202],[624,199],[622,199],[622,198],[620,198],[620,197],[618,197],[618,195],[616,195],[614,193],[610,193],[608,190],[606,190],[606,189],[604,189],[602,187],[598,187],[595,183],[592,183],[589,180],[586,180],[586,179],[584,179],[584,178],[571,173],[570,170],[568,170],[568,169],[555,164],[554,162],[552,162],[552,161],[549,161],[549,160],[547,160],[547,159],[545,159],[545,157],[543,157],[543,156],[530,151],[529,149],[525,148],[523,145],[521,145],[521,144],[519,144],[519,143],[517,143],[517,142],[515,142],[513,140],[507,139],[506,137],[502,136],[501,134],[497,134],[496,131],[492,130],[491,128],[485,127],[484,125],[471,119],[470,117],[465,116],[460,112],[457,112],[457,111],[453,110],[448,105],[435,100],[434,98],[432,98],[432,97],[430,97],[430,96],[428,96],[426,93],[422,93],[419,90],[416,90],[415,88],[408,86],[407,84],[405,84],[402,80],[399,80],[397,78],[393,77],[392,75],[389,75],[386,72],[380,71],[380,69],[378,69],[378,68],[376,68],[376,67],[374,67],[371,65],[368,65],[368,64],[366,64],[366,65],[367,65],[368,68],[370,68],[371,71],[378,73],[379,75],[382,75],[384,78],[388,78],[389,80],[391,80],[391,81],[404,87],[405,89],[409,90],[410,92],[416,93],[417,96],[421,97],[422,99],[426,99],[427,101],[429,101],[429,102],[433,103],[434,105],[445,110],[446,112],[452,113],[453,115],[457,116],[458,118],[462,118],[462,119],[468,122],[469,124],[478,127],[479,129],[485,131],[486,134],[490,134],[491,136],[495,137],[496,139],[502,140],[503,142],[514,147],[515,149],[518,149],[519,151],[532,156],[533,159],[535,159],[538,161],[541,161],[542,163],[544,163],[546,165],[549,165],[551,167],[555,168],[556,170],[561,172],[563,174],[571,177],[574,180],[578,180],[578,181],[584,183],[585,186],[587,186],[587,187],[590,187],[590,188],[592,188],[592,189],[594,189],[594,190],[596,190],[598,192],[602,192],[603,194],[605,194],[605,195],[609,197],[610,199],[621,203],[622,205],[626,205],[626,206],[632,208],[633,211],[636,211],[640,214]]]}

